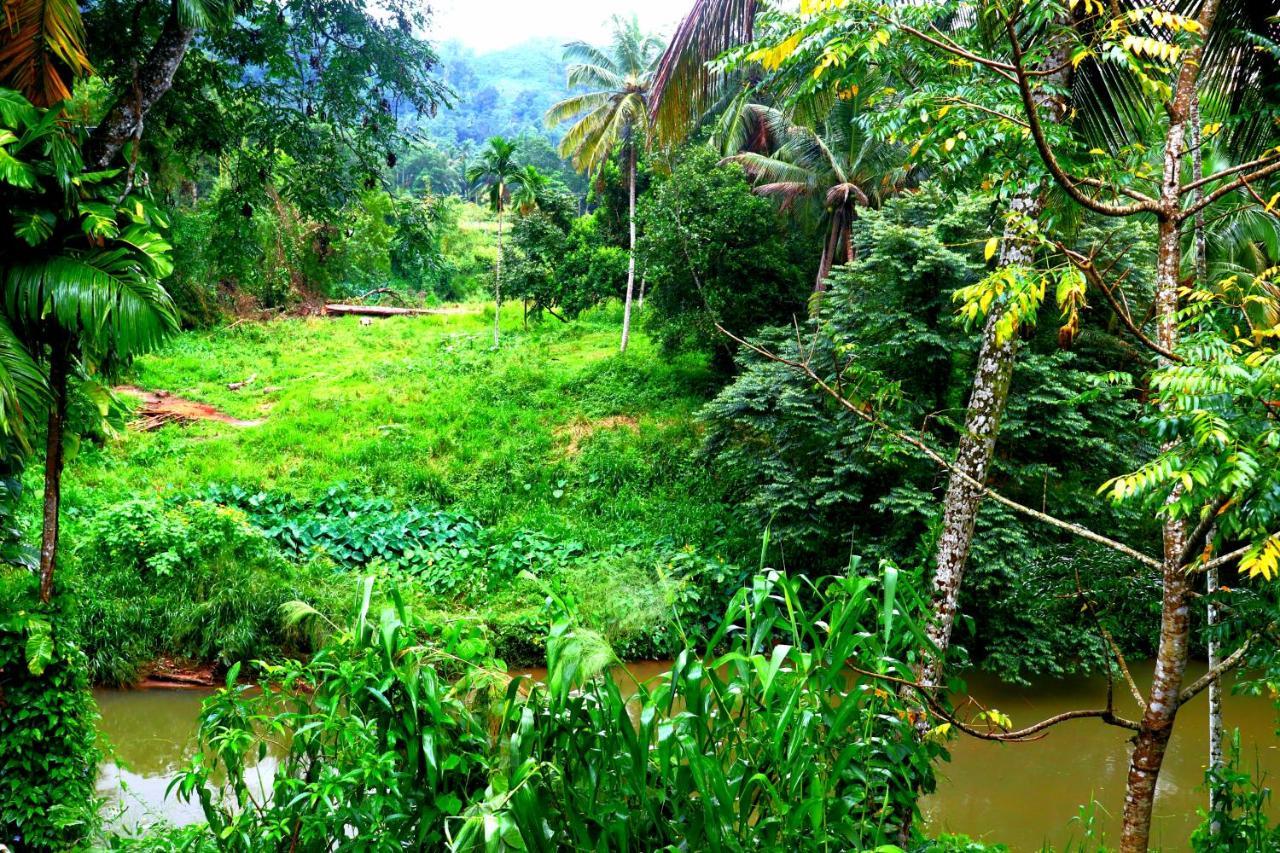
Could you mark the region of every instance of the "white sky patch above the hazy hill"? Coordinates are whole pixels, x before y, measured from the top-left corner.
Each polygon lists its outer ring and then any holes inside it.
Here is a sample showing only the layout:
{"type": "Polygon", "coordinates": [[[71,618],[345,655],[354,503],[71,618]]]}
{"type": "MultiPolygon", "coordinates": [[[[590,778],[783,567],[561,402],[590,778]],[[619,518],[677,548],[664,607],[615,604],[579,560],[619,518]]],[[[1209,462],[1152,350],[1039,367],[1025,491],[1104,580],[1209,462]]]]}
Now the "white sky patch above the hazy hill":
{"type": "Polygon", "coordinates": [[[430,38],[457,38],[477,51],[529,38],[602,44],[614,14],[635,14],[650,32],[669,35],[692,0],[434,0],[430,38]]]}

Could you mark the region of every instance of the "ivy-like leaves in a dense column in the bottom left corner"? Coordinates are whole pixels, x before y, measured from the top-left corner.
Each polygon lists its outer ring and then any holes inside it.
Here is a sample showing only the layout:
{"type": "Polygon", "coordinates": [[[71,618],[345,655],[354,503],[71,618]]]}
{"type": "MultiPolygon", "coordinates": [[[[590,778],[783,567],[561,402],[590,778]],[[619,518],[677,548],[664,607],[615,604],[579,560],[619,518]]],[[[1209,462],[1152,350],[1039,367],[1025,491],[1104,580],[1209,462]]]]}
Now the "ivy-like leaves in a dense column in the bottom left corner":
{"type": "Polygon", "coordinates": [[[0,613],[0,843],[76,847],[95,821],[97,719],[84,656],[32,613],[0,613]]]}

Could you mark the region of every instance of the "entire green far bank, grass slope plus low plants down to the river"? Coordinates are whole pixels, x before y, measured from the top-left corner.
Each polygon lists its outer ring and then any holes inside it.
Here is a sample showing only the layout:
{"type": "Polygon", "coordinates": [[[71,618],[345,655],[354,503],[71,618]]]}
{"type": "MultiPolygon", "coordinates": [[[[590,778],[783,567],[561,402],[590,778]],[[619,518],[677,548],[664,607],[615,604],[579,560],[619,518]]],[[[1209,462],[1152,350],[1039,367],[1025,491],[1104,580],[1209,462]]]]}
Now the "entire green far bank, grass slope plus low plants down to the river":
{"type": "Polygon", "coordinates": [[[306,651],[280,605],[343,619],[355,573],[488,625],[509,663],[544,660],[545,593],[526,571],[627,656],[676,648],[673,613],[709,621],[765,520],[735,519],[698,461],[705,360],[643,338],[617,355],[613,311],[513,332],[498,351],[490,323],[492,309],[283,319],[140,361],[137,386],[261,423],[79,448],[61,576],[93,680],[132,683],[161,656],[306,651]]]}

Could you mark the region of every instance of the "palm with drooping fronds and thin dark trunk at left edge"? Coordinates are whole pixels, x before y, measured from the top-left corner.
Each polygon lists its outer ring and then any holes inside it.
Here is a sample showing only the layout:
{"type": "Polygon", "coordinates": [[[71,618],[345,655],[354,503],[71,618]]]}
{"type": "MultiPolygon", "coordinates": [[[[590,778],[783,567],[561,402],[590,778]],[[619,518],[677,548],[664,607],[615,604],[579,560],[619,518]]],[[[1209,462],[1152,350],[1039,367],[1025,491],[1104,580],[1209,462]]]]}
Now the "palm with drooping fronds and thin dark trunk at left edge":
{"type": "Polygon", "coordinates": [[[73,133],[19,93],[0,90],[0,138],[18,141],[10,149],[17,156],[0,169],[0,423],[15,439],[6,442],[6,462],[20,464],[26,433],[47,407],[40,549],[46,602],[58,557],[70,383],[110,374],[178,324],[160,286],[173,265],[151,205],[109,183],[113,173],[84,173],[73,133]]]}

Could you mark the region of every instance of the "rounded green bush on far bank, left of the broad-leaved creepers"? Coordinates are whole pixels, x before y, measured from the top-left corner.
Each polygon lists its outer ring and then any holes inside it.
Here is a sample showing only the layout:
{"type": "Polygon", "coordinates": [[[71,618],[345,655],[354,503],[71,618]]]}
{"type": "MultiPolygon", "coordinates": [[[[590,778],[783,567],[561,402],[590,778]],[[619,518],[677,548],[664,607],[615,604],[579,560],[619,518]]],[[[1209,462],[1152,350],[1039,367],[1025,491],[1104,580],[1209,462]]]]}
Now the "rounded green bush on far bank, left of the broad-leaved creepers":
{"type": "Polygon", "coordinates": [[[243,512],[137,500],[100,511],[64,573],[67,625],[95,683],[131,684],[160,656],[229,666],[279,657],[280,606],[328,601],[332,570],[292,565],[243,512]]]}

